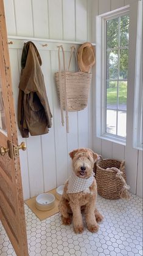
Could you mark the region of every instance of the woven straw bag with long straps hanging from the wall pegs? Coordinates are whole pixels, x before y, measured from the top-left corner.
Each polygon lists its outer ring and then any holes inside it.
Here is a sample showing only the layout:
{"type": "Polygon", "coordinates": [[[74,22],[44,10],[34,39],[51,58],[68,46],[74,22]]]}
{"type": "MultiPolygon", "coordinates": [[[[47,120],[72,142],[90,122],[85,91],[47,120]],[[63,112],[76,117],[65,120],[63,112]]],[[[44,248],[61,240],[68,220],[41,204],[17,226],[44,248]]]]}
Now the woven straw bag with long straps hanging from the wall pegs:
{"type": "MultiPolygon", "coordinates": [[[[64,126],[63,110],[66,110],[66,131],[69,132],[68,127],[68,111],[83,110],[88,104],[89,88],[91,86],[92,74],[69,71],[71,59],[75,51],[75,59],[77,62],[77,49],[75,46],[71,47],[71,55],[69,58],[68,71],[65,67],[65,53],[63,46],[58,47],[58,72],[55,73],[55,85],[57,86],[58,98],[60,100],[61,108],[61,123],[64,126]],[[63,69],[61,72],[60,48],[63,53],[63,69]]],[[[77,62],[78,65],[78,62],[77,62]]]]}

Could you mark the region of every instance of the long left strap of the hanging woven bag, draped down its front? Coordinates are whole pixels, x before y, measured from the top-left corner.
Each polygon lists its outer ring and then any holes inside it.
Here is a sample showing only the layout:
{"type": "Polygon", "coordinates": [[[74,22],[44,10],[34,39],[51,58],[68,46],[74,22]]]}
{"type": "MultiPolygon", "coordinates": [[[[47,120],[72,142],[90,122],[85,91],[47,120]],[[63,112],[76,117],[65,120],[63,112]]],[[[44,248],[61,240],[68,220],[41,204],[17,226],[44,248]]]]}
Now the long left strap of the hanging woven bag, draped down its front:
{"type": "Polygon", "coordinates": [[[69,133],[69,118],[68,118],[68,102],[66,93],[66,65],[65,65],[65,53],[63,50],[63,45],[58,46],[58,73],[59,73],[59,83],[60,83],[60,109],[61,109],[61,123],[64,126],[63,117],[63,97],[61,90],[61,62],[60,62],[60,48],[63,53],[63,70],[64,70],[64,84],[65,84],[65,109],[66,109],[66,132],[69,133]]]}

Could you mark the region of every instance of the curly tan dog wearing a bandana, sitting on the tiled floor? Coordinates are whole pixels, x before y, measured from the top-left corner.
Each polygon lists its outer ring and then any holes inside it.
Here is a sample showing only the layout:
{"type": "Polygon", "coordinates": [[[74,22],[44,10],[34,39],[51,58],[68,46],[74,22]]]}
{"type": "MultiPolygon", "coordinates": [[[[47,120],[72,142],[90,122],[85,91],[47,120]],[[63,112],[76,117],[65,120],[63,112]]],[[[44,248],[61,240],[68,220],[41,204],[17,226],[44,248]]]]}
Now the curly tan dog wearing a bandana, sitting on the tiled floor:
{"type": "Polygon", "coordinates": [[[72,158],[73,172],[65,183],[63,195],[59,203],[59,211],[63,224],[73,224],[75,233],[83,232],[81,209],[85,209],[85,220],[90,232],[97,232],[103,217],[96,209],[97,184],[93,176],[94,162],[98,155],[91,149],[80,148],[69,153],[72,158]]]}

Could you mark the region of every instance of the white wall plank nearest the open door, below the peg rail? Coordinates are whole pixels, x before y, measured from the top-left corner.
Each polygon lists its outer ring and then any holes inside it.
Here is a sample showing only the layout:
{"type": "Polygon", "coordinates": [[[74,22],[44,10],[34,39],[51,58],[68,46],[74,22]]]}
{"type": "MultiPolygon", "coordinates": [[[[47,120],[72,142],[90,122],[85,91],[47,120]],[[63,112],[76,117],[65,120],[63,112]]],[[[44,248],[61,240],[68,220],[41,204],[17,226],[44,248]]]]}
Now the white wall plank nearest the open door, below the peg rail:
{"type": "MultiPolygon", "coordinates": [[[[13,87],[13,94],[14,94],[14,104],[15,110],[17,110],[18,105],[18,84],[19,84],[19,56],[18,50],[10,49],[10,66],[12,72],[12,87],[13,87]]],[[[17,114],[17,113],[16,113],[17,114]]],[[[17,118],[16,118],[17,123],[17,118]]],[[[20,132],[18,130],[18,143],[20,144],[22,141],[26,142],[26,139],[21,138],[20,132]]],[[[23,194],[24,198],[27,199],[30,197],[29,191],[29,173],[28,173],[28,163],[27,163],[27,152],[19,152],[20,159],[21,159],[21,177],[23,181],[23,194]]]]}

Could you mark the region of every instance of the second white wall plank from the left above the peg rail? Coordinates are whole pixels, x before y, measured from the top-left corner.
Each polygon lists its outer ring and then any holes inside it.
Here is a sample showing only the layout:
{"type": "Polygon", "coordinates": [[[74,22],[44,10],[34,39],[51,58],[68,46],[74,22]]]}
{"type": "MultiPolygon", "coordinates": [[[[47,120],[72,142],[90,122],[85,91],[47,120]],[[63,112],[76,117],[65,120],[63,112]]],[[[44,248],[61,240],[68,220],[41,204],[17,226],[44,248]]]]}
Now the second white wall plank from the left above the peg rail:
{"type": "MultiPolygon", "coordinates": [[[[33,36],[31,0],[13,0],[15,3],[15,20],[18,36],[33,36]]],[[[9,13],[7,13],[9,15],[9,13]]]]}

